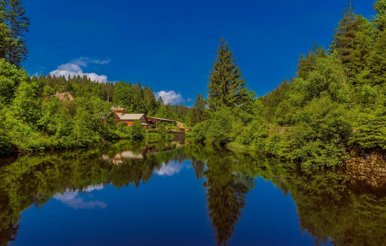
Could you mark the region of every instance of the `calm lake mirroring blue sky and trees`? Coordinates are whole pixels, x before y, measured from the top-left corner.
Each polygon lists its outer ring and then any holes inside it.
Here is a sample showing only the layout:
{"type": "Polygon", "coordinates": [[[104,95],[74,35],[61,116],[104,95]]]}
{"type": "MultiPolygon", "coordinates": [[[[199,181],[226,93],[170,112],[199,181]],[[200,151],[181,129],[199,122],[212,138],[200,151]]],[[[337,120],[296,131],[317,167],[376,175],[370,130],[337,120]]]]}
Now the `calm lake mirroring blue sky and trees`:
{"type": "Polygon", "coordinates": [[[383,185],[191,141],[3,159],[0,245],[386,245],[383,185]]]}

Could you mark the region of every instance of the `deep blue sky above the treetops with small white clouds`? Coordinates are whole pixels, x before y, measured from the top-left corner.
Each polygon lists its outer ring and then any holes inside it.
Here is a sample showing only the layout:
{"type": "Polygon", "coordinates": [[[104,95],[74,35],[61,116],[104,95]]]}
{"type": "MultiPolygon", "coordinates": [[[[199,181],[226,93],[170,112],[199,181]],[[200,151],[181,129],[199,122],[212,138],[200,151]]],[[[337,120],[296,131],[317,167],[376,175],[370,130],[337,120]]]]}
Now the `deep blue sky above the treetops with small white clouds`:
{"type": "MultiPolygon", "coordinates": [[[[374,14],[372,0],[354,0],[374,14]]],[[[86,73],[148,84],[171,103],[193,104],[223,36],[247,85],[264,95],[295,75],[312,42],[327,47],[347,0],[24,0],[30,75],[86,73]],[[170,92],[173,91],[173,92],[170,92]]]]}

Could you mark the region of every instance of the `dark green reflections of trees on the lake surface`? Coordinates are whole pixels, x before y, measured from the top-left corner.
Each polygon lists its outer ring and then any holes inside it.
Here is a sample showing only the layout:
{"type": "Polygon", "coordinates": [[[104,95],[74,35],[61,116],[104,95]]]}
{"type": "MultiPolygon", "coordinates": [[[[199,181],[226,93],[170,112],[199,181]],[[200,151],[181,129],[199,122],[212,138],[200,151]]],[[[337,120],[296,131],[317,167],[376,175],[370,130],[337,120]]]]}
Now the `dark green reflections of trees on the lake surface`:
{"type": "MultiPolygon", "coordinates": [[[[177,142],[117,142],[92,150],[21,156],[0,165],[0,245],[15,240],[20,214],[57,194],[112,184],[138,187],[163,165],[190,160],[203,179],[218,245],[228,245],[254,179],[272,181],[296,202],[299,224],[315,245],[386,245],[383,188],[355,187],[345,170],[302,172],[292,163],[177,142]]],[[[253,209],[253,208],[249,208],[253,209]]],[[[256,211],[262,212],[262,211],[256,211]]]]}

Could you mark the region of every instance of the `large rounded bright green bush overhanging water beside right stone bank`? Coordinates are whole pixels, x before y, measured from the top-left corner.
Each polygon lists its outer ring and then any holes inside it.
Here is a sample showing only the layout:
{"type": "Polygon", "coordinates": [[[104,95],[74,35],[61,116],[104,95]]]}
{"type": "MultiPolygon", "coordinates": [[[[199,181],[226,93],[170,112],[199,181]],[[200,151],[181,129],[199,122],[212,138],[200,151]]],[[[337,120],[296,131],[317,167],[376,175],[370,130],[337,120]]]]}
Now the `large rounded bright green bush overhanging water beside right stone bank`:
{"type": "Polygon", "coordinates": [[[304,167],[343,165],[344,143],[352,133],[354,114],[329,96],[315,98],[295,115],[296,125],[285,131],[283,138],[273,138],[269,152],[292,160],[304,167]]]}

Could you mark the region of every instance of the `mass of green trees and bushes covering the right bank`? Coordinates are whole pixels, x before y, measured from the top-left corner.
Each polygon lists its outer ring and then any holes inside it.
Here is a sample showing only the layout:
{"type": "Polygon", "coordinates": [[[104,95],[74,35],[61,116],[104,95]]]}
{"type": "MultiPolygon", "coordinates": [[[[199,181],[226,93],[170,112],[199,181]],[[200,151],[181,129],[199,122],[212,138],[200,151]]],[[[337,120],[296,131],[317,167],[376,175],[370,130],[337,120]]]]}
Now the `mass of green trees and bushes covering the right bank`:
{"type": "Polygon", "coordinates": [[[301,161],[304,167],[344,165],[350,153],[386,150],[386,0],[370,20],[349,0],[326,50],[301,54],[296,77],[265,96],[246,87],[229,44],[220,40],[207,99],[191,110],[197,141],[238,142],[255,152],[301,161]]]}

